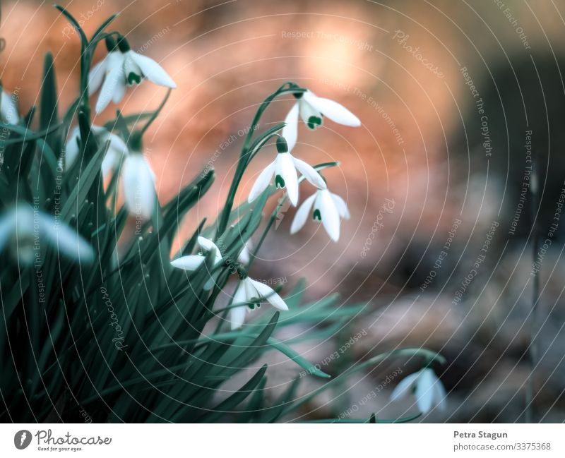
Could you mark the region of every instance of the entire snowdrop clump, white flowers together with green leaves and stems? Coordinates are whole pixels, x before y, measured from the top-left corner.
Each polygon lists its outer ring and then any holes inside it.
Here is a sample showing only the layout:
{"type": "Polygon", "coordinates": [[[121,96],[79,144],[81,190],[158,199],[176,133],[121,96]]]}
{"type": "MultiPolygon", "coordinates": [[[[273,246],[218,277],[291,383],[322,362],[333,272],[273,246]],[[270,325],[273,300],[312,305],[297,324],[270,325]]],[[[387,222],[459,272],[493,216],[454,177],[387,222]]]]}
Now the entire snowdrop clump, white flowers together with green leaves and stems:
{"type": "MultiPolygon", "coordinates": [[[[172,200],[161,204],[157,199],[143,135],[177,86],[160,64],[133,52],[124,35],[107,31],[116,15],[89,40],[76,18],[57,8],[81,40],[76,100],[59,116],[51,54],[44,61],[37,128],[32,128],[35,107],[21,114],[14,97],[1,90],[0,128],[9,135],[0,138],[5,152],[0,175],[0,260],[7,266],[0,272],[0,349],[13,351],[9,355],[0,351],[0,394],[5,405],[0,420],[13,420],[16,415],[19,421],[76,421],[83,419],[85,411],[90,421],[104,422],[212,422],[238,409],[238,421],[272,422],[291,416],[343,378],[331,379],[295,399],[297,377],[269,402],[264,399],[267,365],[254,369],[239,390],[223,390],[222,384],[272,349],[305,373],[327,380],[327,373],[292,349],[292,339],[290,344],[275,339],[275,328],[307,325],[311,332],[303,339],[328,341],[335,330],[367,308],[367,304],[343,304],[334,313],[335,297],[301,306],[304,282],[283,299],[282,285],[272,288],[249,277],[285,199],[299,204],[301,181],[309,181],[316,191],[299,206],[290,232],[299,231],[311,215],[338,241],[341,219],[349,218],[350,212],[321,175],[337,164],[311,165],[292,150],[299,119],[312,130],[326,118],[345,126],[359,126],[359,119],[296,83],[281,85],[244,131],[242,152],[218,218],[211,224],[201,221],[178,253],[171,255],[180,222],[214,179],[208,165],[172,200]],[[102,42],[107,54],[93,65],[95,49],[102,42]],[[91,96],[97,95],[94,112],[100,114],[121,103],[128,88],[144,80],[167,88],[155,111],[124,115],[117,110],[115,119],[93,123],[91,96]],[[263,112],[284,95],[296,100],[284,122],[261,131],[263,112]],[[273,138],[275,160],[258,175],[246,201],[236,206],[235,195],[251,160],[273,138]],[[263,234],[251,241],[266,201],[281,188],[285,198],[263,234]],[[124,230],[129,217],[138,224],[135,236],[124,230]],[[228,284],[234,287],[231,299],[218,308],[220,293],[228,284]],[[244,326],[246,315],[262,302],[276,309],[274,315],[256,313],[254,326],[244,326]],[[280,313],[285,313],[283,323],[278,322],[280,313]],[[318,329],[320,321],[328,326],[318,329]],[[225,329],[227,322],[230,327],[225,329]],[[218,401],[218,392],[232,394],[218,401]]],[[[404,356],[421,356],[427,364],[442,360],[427,349],[399,349],[348,368],[344,377],[404,356]]],[[[418,386],[425,386],[428,379],[418,378],[418,386]]]]}

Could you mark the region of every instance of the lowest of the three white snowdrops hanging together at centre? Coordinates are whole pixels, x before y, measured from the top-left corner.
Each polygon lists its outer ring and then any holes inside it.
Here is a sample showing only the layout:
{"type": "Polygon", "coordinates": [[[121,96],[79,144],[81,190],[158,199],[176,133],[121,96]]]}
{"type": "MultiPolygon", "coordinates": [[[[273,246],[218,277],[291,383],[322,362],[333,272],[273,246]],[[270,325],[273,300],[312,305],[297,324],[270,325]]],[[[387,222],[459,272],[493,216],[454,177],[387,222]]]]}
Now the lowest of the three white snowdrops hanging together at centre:
{"type": "Polygon", "coordinates": [[[331,193],[328,189],[319,189],[298,207],[295,219],[290,226],[290,234],[296,234],[302,229],[312,207],[314,207],[314,211],[311,213],[312,219],[320,221],[331,239],[335,242],[338,241],[340,238],[340,218],[350,219],[350,213],[347,210],[345,200],[340,198],[339,195],[331,193]]]}

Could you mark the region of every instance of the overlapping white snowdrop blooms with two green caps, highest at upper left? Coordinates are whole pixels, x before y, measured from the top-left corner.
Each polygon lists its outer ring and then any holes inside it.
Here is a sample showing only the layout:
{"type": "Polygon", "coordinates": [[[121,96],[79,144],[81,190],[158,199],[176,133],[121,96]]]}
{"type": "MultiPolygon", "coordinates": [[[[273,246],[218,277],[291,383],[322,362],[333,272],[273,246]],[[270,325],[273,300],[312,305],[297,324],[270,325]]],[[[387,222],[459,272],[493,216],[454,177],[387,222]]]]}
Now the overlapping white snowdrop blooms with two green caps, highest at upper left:
{"type": "Polygon", "coordinates": [[[126,93],[126,85],[141,83],[143,78],[167,88],[177,87],[157,62],[131,51],[125,37],[120,35],[117,43],[112,37],[107,37],[106,47],[107,56],[93,66],[88,75],[89,95],[96,92],[102,85],[96,102],[97,114],[102,113],[109,102],[121,102],[126,93]]]}

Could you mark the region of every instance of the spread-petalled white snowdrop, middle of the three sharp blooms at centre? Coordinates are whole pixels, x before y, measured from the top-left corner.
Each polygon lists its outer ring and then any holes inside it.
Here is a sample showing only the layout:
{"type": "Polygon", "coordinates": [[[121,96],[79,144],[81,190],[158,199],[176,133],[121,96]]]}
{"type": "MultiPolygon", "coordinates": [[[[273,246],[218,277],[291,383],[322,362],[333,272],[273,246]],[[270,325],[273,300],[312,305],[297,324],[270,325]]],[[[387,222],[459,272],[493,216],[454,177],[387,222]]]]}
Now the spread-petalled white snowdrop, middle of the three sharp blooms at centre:
{"type": "Polygon", "coordinates": [[[277,188],[286,188],[290,203],[296,207],[298,203],[298,176],[297,170],[304,175],[316,188],[326,189],[326,182],[321,175],[306,162],[297,159],[290,154],[287,141],[283,137],[277,139],[277,158],[271,162],[266,169],[257,177],[249,198],[249,203],[253,202],[269,186],[273,174],[275,175],[275,185],[277,188]]]}

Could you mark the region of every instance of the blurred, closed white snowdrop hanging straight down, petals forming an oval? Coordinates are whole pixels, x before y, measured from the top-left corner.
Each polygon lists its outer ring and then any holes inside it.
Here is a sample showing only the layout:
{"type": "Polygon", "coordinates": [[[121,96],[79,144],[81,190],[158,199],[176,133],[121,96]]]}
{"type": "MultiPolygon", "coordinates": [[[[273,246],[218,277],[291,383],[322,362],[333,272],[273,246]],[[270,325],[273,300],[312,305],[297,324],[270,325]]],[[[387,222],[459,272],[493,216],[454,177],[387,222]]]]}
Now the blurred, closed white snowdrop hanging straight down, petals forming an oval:
{"type": "Polygon", "coordinates": [[[131,215],[150,219],[157,203],[155,174],[141,152],[130,152],[121,169],[124,200],[131,215]]]}

